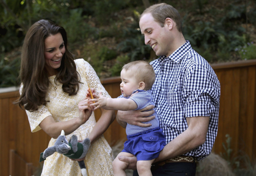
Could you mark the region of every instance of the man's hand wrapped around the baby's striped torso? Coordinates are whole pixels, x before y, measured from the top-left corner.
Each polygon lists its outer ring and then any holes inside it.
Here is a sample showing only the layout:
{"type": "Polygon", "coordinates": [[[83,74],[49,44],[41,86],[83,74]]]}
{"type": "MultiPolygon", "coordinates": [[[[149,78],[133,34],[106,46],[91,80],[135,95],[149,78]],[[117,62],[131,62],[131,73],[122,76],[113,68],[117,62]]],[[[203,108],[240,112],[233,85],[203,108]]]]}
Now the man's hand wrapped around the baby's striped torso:
{"type": "Polygon", "coordinates": [[[124,126],[123,122],[129,123],[131,125],[141,126],[141,127],[149,127],[152,124],[144,124],[142,122],[148,122],[155,118],[155,116],[150,116],[154,114],[154,110],[147,111],[153,109],[154,105],[149,105],[140,110],[132,110],[132,111],[118,111],[117,113],[117,121],[120,125],[124,126]],[[146,111],[146,112],[143,112],[146,111]],[[150,117],[146,117],[150,116],[150,117]]]}

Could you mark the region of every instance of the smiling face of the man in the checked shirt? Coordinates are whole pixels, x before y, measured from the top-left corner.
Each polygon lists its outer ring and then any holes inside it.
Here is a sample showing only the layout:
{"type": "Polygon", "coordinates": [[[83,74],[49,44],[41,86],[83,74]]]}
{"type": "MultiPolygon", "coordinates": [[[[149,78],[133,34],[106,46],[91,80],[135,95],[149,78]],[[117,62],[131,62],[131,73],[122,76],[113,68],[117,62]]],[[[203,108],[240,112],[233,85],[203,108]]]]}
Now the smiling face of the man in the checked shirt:
{"type": "Polygon", "coordinates": [[[145,37],[145,44],[150,45],[158,56],[169,56],[170,40],[168,39],[170,33],[167,24],[161,27],[152,17],[151,13],[144,14],[139,20],[139,27],[141,33],[145,37]]]}

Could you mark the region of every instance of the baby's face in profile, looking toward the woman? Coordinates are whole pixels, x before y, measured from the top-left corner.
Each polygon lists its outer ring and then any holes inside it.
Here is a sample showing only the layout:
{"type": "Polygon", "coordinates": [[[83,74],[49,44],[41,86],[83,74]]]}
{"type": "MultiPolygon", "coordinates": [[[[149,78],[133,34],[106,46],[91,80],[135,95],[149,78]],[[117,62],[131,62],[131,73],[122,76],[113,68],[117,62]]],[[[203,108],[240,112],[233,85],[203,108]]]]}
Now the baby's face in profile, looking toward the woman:
{"type": "Polygon", "coordinates": [[[120,89],[124,97],[131,96],[133,91],[139,88],[139,82],[136,81],[132,71],[122,69],[121,79],[120,89]]]}

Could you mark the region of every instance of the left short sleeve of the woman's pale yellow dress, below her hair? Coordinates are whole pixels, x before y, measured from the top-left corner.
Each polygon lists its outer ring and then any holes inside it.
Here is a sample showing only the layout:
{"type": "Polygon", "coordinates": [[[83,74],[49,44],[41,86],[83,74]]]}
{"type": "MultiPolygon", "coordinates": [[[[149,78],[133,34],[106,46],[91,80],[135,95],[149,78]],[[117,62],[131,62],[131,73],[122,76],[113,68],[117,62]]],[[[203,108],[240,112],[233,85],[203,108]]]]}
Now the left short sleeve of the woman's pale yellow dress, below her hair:
{"type": "MultiPolygon", "coordinates": [[[[22,92],[22,88],[23,88],[23,84],[21,84],[21,88],[19,89],[20,94],[22,92]]],[[[43,119],[51,115],[48,108],[44,105],[39,106],[37,111],[30,112],[26,110],[26,113],[29,119],[31,132],[36,132],[41,130],[41,127],[39,126],[39,124],[43,121],[43,119]]]]}

